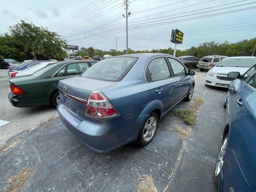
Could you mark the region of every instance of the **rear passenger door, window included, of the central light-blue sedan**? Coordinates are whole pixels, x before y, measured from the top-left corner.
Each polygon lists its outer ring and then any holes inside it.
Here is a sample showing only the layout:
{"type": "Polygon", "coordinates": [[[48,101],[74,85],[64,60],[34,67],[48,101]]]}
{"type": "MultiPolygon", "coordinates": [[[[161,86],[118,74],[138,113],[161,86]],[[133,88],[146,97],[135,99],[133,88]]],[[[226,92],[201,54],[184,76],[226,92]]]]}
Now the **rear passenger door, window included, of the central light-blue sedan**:
{"type": "Polygon", "coordinates": [[[161,106],[163,112],[167,112],[176,100],[177,82],[172,77],[170,66],[164,57],[154,58],[146,68],[146,84],[154,102],[161,106]]]}

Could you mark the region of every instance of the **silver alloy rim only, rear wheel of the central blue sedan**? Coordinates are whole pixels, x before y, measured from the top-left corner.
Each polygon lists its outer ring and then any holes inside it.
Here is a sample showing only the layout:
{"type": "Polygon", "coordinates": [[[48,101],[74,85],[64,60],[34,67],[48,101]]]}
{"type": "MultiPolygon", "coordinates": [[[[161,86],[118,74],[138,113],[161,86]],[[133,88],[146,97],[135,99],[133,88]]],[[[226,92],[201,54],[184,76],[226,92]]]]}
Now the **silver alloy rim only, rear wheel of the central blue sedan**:
{"type": "Polygon", "coordinates": [[[143,130],[143,138],[145,141],[149,141],[156,132],[157,120],[154,116],[148,118],[144,130],[143,130]]]}

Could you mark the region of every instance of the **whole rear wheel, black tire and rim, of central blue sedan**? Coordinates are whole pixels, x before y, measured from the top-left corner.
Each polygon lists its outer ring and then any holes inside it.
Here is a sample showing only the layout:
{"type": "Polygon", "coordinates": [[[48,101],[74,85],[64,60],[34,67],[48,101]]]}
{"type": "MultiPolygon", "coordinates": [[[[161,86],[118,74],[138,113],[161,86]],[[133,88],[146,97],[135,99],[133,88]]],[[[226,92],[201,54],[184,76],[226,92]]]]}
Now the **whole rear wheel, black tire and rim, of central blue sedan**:
{"type": "Polygon", "coordinates": [[[157,126],[158,126],[158,116],[156,113],[152,112],[149,114],[147,120],[144,122],[142,128],[140,129],[140,133],[136,142],[140,146],[146,146],[147,144],[149,144],[156,135],[157,126]],[[146,128],[151,130],[152,136],[150,136],[150,132],[148,132],[146,128]]]}

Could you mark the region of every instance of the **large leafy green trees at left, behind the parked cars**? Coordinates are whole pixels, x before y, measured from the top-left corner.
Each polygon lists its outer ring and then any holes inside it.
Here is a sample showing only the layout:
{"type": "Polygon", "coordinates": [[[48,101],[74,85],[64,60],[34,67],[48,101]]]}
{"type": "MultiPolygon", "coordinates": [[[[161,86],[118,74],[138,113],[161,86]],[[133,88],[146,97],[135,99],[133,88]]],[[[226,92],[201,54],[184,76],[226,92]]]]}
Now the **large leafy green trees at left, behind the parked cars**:
{"type": "Polygon", "coordinates": [[[66,40],[55,32],[21,20],[0,35],[0,58],[61,60],[66,57],[66,40]]]}

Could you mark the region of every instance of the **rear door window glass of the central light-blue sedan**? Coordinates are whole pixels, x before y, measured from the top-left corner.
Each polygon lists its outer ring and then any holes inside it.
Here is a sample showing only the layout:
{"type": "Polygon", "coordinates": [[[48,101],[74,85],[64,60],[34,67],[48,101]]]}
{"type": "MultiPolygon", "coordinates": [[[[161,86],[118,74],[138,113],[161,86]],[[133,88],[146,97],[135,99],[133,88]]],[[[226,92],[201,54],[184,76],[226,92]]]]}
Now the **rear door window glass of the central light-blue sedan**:
{"type": "Polygon", "coordinates": [[[163,80],[169,78],[170,70],[164,58],[154,59],[148,64],[148,70],[150,72],[152,81],[163,80]]]}

